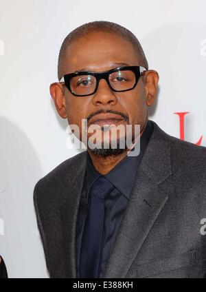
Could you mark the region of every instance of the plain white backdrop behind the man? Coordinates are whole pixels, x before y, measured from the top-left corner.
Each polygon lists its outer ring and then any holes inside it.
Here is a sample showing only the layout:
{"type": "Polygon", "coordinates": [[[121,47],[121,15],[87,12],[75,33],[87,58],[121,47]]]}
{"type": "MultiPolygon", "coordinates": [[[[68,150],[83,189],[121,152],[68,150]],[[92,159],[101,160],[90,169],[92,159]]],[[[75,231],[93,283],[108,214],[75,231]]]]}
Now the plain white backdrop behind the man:
{"type": "Polygon", "coordinates": [[[124,25],[159,72],[150,119],[206,146],[205,0],[0,0],[0,254],[10,278],[47,278],[36,226],[37,180],[77,154],[67,120],[57,116],[49,84],[58,81],[60,45],[89,21],[124,25]]]}

